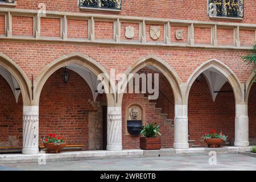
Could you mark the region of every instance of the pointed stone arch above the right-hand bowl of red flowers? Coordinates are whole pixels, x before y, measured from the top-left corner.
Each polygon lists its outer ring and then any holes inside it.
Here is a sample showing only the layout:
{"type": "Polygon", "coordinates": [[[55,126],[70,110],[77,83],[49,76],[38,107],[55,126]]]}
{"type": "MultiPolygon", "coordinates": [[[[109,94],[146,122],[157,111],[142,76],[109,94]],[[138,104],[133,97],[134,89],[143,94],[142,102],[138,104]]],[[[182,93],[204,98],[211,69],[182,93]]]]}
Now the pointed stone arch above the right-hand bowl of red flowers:
{"type": "Polygon", "coordinates": [[[185,102],[188,103],[189,92],[191,90],[191,86],[193,85],[193,82],[196,80],[196,77],[210,68],[214,68],[218,72],[222,73],[222,75],[228,80],[229,84],[233,88],[236,104],[241,104],[243,102],[241,82],[239,81],[236,74],[227,65],[225,65],[221,61],[218,61],[217,59],[211,59],[201,64],[199,67],[195,69],[192,75],[188,78],[187,90],[185,92],[185,102]]]}

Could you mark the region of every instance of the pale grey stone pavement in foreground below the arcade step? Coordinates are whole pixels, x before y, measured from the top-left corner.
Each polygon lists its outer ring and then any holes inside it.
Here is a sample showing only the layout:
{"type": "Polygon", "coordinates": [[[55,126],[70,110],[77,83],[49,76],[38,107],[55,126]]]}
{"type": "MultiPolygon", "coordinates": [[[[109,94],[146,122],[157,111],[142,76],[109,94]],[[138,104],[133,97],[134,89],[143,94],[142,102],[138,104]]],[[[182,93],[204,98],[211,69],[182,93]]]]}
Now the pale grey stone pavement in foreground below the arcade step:
{"type": "Polygon", "coordinates": [[[76,160],[63,162],[0,164],[0,170],[256,170],[256,158],[241,154],[217,155],[210,165],[209,156],[171,156],[159,158],[76,160]]]}

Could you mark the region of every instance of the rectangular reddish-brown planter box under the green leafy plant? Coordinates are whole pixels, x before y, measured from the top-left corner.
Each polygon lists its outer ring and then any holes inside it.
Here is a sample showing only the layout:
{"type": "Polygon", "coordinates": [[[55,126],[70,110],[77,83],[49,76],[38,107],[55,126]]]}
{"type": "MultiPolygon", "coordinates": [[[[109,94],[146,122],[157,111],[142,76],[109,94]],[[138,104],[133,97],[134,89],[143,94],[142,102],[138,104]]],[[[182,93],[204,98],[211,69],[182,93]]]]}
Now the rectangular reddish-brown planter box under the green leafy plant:
{"type": "Polygon", "coordinates": [[[141,137],[139,138],[139,147],[143,150],[159,150],[161,148],[161,140],[158,137],[141,137]]]}

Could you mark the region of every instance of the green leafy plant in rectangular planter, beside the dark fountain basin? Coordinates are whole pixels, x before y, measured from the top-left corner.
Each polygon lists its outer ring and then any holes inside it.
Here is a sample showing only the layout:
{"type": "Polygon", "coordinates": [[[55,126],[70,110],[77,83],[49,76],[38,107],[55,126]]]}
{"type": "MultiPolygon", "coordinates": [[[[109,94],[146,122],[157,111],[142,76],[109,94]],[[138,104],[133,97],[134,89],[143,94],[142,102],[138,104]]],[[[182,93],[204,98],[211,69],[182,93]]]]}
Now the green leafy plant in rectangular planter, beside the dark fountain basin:
{"type": "Polygon", "coordinates": [[[144,137],[139,138],[139,146],[143,150],[159,150],[161,148],[161,140],[157,135],[161,136],[159,133],[159,125],[156,123],[150,123],[142,127],[141,134],[144,137]]]}

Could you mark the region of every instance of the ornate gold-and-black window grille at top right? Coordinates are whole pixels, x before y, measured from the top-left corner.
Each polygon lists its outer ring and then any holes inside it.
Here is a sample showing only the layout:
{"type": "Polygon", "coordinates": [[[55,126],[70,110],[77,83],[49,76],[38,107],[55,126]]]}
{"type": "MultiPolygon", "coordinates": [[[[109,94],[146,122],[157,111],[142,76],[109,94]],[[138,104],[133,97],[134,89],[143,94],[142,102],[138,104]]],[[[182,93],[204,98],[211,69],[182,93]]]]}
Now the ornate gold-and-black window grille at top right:
{"type": "Polygon", "coordinates": [[[243,0],[209,0],[209,15],[243,18],[243,0]]]}

